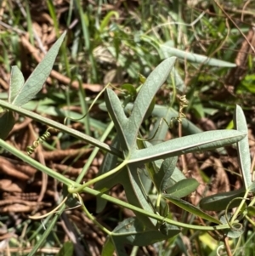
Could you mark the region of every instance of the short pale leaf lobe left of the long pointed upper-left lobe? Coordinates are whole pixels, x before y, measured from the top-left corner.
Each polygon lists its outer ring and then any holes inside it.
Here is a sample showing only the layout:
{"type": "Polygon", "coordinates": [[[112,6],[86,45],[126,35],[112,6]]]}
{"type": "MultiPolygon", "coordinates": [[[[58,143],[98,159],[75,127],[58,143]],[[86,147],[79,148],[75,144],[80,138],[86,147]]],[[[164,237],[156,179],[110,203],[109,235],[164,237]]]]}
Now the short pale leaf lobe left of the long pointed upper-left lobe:
{"type": "Polygon", "coordinates": [[[25,79],[17,65],[12,66],[8,89],[8,102],[12,103],[24,85],[25,79]]]}

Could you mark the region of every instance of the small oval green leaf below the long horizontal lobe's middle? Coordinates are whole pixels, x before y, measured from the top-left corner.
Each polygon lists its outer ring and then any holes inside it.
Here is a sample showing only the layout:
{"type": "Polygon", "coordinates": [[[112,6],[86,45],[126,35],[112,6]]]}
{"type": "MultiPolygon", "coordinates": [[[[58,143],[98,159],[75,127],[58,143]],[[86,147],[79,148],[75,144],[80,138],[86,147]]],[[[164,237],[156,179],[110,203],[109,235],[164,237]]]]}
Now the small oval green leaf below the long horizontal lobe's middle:
{"type": "Polygon", "coordinates": [[[182,179],[167,189],[167,194],[181,198],[190,195],[198,186],[199,182],[196,179],[182,179]]]}

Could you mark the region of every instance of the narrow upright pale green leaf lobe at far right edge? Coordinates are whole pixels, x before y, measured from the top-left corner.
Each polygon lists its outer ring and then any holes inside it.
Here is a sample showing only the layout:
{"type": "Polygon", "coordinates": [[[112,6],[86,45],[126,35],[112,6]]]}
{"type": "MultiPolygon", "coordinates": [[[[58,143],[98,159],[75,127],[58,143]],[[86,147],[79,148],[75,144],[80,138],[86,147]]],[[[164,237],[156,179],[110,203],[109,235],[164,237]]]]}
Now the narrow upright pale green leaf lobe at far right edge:
{"type": "MultiPolygon", "coordinates": [[[[234,123],[236,130],[248,134],[248,128],[246,124],[246,117],[241,109],[240,105],[235,106],[234,123]]],[[[245,188],[247,189],[252,185],[251,177],[251,153],[249,147],[248,136],[237,142],[237,152],[241,168],[241,174],[244,181],[245,188]]]]}

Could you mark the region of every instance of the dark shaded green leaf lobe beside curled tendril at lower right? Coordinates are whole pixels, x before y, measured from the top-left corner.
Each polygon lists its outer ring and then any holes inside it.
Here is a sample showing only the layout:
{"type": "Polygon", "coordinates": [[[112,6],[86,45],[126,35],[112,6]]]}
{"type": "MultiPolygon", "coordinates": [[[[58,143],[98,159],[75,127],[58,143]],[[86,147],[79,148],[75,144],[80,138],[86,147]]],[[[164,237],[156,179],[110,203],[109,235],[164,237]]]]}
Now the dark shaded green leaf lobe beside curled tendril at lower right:
{"type": "MultiPolygon", "coordinates": [[[[206,211],[223,211],[226,209],[230,201],[236,197],[243,197],[245,189],[241,188],[237,191],[229,191],[218,193],[216,195],[204,197],[199,203],[200,207],[206,211]]],[[[241,200],[235,200],[229,205],[229,209],[238,207],[241,200]]]]}

